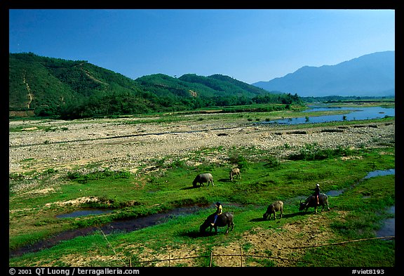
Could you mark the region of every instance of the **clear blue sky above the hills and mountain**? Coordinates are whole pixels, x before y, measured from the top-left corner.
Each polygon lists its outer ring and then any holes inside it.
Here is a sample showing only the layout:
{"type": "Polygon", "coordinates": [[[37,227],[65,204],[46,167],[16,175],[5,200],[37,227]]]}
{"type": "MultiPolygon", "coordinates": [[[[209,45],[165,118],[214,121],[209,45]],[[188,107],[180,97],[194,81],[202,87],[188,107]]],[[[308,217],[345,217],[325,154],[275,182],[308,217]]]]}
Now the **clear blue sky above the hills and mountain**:
{"type": "Polygon", "coordinates": [[[131,79],[224,74],[248,84],[395,51],[395,11],[9,10],[9,52],[88,60],[131,79]]]}

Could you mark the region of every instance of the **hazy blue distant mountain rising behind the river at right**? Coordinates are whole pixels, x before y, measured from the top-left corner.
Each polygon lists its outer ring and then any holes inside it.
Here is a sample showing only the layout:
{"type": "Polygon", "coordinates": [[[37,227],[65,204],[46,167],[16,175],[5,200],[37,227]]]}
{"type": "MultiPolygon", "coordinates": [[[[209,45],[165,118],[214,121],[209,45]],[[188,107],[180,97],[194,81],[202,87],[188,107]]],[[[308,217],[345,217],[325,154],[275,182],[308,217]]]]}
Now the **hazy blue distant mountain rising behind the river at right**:
{"type": "Polygon", "coordinates": [[[253,85],[301,97],[393,96],[395,51],[370,53],[337,65],[304,66],[284,77],[253,85]]]}

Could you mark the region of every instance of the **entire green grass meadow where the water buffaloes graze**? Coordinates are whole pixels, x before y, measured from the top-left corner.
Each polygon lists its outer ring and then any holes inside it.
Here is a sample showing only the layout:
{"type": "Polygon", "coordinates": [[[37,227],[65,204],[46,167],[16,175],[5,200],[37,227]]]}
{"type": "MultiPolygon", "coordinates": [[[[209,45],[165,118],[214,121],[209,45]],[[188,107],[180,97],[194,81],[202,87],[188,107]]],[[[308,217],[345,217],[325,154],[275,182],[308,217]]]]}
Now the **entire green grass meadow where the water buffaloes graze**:
{"type": "MultiPolygon", "coordinates": [[[[313,148],[313,147],[312,147],[313,148]]],[[[322,242],[333,243],[352,239],[375,237],[375,230],[382,226],[382,219],[389,216],[384,209],[395,204],[394,176],[382,176],[362,181],[344,194],[330,198],[329,212],[306,215],[298,211],[297,197],[310,195],[316,183],[321,183],[323,192],[349,188],[358,183],[369,171],[395,167],[394,147],[374,149],[339,150],[327,152],[321,160],[278,160],[255,148],[242,148],[232,152],[207,148],[191,152],[188,160],[161,157],[155,159],[153,171],[132,174],[127,171],[103,169],[81,174],[71,171],[58,176],[57,171],[41,174],[43,188],[50,187],[42,195],[11,194],[10,249],[34,243],[50,235],[72,228],[102,225],[123,218],[135,218],[166,211],[177,206],[211,204],[210,209],[201,209],[187,216],[180,216],[166,223],[134,232],[104,236],[102,232],[86,237],[61,242],[50,249],[10,258],[11,266],[67,266],[76,260],[87,260],[85,265],[121,266],[156,265],[136,263],[144,258],[167,258],[170,251],[187,248],[192,254],[206,255],[219,247],[234,247],[239,243],[249,254],[274,256],[271,249],[256,249],[245,235],[274,234],[286,232],[291,225],[304,225],[310,218],[321,218],[317,223],[319,233],[327,233],[322,242]],[[217,152],[228,155],[228,164],[211,164],[206,156],[217,152]],[[342,155],[352,158],[342,159],[342,155]],[[189,166],[189,162],[198,166],[189,166]],[[229,166],[241,168],[241,180],[229,181],[229,166]],[[191,188],[196,173],[209,171],[215,176],[215,186],[191,188]],[[56,180],[55,180],[56,178],[56,180]],[[50,185],[52,183],[52,185],[50,185]],[[100,216],[59,219],[59,213],[74,211],[76,206],[58,206],[49,202],[63,202],[81,197],[97,197],[98,202],[81,204],[81,208],[109,208],[114,212],[100,216]],[[285,202],[284,218],[262,221],[262,213],[276,199],[285,202]],[[213,213],[213,202],[220,200],[224,211],[233,211],[236,226],[229,235],[200,235],[198,227],[213,213]],[[342,216],[343,213],[343,216],[342,216]],[[268,232],[269,231],[269,232],[268,232]],[[274,231],[271,232],[271,231],[274,231]],[[114,250],[112,250],[114,249],[114,250]],[[102,256],[102,258],[100,257],[102,256]],[[64,261],[65,260],[65,261],[64,261]]],[[[17,176],[15,176],[17,178],[17,176]]],[[[23,181],[23,180],[22,180],[23,181]]],[[[304,232],[295,238],[304,238],[304,232]]],[[[319,235],[319,234],[318,234],[319,235]]],[[[366,240],[345,245],[319,247],[304,250],[304,254],[290,254],[294,262],[288,266],[394,266],[394,241],[366,240]],[[354,259],[360,252],[361,258],[354,259]]],[[[189,253],[189,254],[191,254],[189,253]]],[[[160,265],[168,265],[161,263],[160,265]]],[[[174,264],[175,265],[175,264],[174,264]]],[[[208,266],[208,258],[194,258],[192,263],[177,263],[177,266],[208,266]]],[[[213,265],[223,264],[213,262],[213,265]]],[[[276,259],[246,258],[245,265],[276,266],[276,259]]]]}

